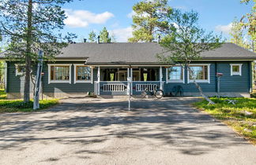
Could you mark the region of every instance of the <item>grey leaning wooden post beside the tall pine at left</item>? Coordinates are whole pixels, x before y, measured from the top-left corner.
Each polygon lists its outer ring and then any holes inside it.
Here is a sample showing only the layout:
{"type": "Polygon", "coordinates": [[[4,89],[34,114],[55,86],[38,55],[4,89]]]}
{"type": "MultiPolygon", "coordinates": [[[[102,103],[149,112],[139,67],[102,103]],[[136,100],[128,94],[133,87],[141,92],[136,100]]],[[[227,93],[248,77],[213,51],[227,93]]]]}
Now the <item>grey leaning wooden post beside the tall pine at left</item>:
{"type": "Polygon", "coordinates": [[[40,108],[39,98],[40,98],[40,87],[41,87],[41,77],[42,77],[42,68],[43,68],[43,51],[39,52],[39,62],[37,64],[37,72],[36,72],[36,83],[35,83],[35,91],[34,91],[34,103],[33,109],[40,108]]]}

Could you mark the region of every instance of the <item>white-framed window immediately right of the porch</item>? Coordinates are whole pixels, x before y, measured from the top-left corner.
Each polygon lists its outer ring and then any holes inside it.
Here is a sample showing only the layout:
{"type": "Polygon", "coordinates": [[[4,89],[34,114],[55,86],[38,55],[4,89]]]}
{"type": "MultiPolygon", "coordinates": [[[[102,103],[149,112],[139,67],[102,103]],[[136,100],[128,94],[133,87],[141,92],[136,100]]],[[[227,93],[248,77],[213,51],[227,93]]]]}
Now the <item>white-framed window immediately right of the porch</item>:
{"type": "Polygon", "coordinates": [[[184,71],[182,66],[173,66],[167,68],[166,71],[168,83],[184,83],[184,71]]]}

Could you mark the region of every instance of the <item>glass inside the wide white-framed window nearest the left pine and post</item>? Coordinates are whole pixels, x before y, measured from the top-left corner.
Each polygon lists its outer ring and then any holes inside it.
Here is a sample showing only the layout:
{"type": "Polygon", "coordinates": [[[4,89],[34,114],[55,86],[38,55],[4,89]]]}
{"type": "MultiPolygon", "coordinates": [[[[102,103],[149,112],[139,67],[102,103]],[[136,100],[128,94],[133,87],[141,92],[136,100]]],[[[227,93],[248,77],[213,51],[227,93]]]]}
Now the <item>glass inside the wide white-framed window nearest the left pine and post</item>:
{"type": "Polygon", "coordinates": [[[51,66],[51,80],[69,80],[69,66],[51,66]]]}

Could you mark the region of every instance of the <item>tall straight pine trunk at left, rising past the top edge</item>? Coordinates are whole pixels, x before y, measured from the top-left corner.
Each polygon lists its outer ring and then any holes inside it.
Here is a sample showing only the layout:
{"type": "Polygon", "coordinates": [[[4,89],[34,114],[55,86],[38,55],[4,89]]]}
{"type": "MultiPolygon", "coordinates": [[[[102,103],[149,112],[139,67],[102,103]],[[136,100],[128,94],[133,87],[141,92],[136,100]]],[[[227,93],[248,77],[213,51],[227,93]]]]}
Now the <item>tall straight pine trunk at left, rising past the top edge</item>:
{"type": "Polygon", "coordinates": [[[31,51],[32,51],[32,0],[28,1],[28,24],[26,30],[26,54],[25,54],[25,79],[24,79],[24,102],[30,101],[30,74],[31,74],[31,51]]]}

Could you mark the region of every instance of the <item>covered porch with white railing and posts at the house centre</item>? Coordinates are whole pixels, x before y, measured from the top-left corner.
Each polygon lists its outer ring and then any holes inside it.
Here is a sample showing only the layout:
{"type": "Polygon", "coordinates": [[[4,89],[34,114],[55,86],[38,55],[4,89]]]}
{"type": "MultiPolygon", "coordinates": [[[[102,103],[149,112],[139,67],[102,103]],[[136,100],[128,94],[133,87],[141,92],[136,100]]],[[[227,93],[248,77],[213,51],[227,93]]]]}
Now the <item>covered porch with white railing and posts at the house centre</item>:
{"type": "Polygon", "coordinates": [[[139,95],[143,90],[163,90],[163,73],[161,66],[98,66],[97,81],[94,82],[96,95],[139,95]]]}

